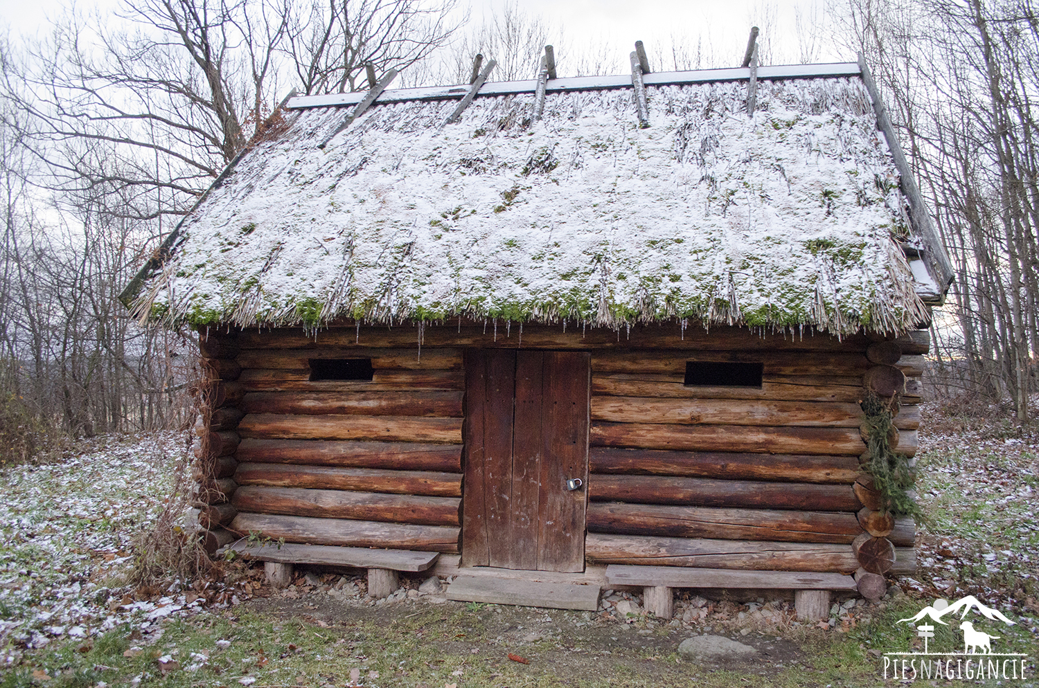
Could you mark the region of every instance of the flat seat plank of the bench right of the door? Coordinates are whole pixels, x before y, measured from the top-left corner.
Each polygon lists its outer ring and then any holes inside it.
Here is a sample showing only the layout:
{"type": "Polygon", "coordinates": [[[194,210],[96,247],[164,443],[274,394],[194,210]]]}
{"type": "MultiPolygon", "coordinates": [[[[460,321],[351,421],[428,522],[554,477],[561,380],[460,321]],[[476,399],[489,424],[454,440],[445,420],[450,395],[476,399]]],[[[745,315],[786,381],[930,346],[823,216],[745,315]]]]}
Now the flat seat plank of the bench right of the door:
{"type": "Polygon", "coordinates": [[[835,573],[794,571],[732,571],[684,567],[639,567],[611,563],[606,568],[610,585],[663,585],[667,587],[741,587],[784,590],[854,590],[855,579],[835,573]]]}

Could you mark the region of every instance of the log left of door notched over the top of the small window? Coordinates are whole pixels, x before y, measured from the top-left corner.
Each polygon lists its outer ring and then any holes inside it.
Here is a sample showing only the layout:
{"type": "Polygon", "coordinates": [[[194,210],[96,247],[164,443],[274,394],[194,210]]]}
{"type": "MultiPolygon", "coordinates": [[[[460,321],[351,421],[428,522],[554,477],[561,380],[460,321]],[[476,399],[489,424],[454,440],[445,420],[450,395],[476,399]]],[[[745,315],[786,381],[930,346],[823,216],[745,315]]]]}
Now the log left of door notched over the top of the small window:
{"type": "Polygon", "coordinates": [[[307,368],[312,358],[370,358],[377,370],[461,369],[458,349],[246,349],[238,354],[237,360],[243,368],[307,368]]]}

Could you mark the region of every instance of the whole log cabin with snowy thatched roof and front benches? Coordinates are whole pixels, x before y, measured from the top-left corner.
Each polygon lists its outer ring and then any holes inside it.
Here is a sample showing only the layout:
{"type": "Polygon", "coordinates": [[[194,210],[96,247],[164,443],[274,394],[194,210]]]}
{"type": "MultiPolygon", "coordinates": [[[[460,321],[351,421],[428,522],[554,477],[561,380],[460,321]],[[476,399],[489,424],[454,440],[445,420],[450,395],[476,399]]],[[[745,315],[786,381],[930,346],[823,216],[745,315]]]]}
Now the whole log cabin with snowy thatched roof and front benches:
{"type": "Polygon", "coordinates": [[[199,335],[207,547],[664,617],[882,595],[914,525],[860,403],[915,452],[952,270],[864,62],[492,67],[287,99],[125,292],[199,335]]]}

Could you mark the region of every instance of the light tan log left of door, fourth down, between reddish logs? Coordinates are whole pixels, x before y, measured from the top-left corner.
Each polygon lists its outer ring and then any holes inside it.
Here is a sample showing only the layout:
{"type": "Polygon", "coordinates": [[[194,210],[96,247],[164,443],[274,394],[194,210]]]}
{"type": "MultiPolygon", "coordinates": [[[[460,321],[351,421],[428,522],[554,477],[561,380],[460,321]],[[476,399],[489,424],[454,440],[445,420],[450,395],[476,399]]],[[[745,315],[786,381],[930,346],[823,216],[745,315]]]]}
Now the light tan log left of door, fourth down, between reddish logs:
{"type": "Polygon", "coordinates": [[[238,423],[242,437],[297,440],[461,442],[461,418],[250,413],[238,423]]]}

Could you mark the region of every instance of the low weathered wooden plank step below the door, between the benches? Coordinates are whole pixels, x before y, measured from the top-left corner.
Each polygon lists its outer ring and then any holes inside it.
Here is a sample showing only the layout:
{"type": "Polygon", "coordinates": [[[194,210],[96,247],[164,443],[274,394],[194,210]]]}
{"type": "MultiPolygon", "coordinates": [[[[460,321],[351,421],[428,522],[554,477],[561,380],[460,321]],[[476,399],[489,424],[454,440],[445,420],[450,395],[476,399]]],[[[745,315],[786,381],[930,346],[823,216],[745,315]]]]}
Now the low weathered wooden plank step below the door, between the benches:
{"type": "Polygon", "coordinates": [[[459,576],[448,586],[448,599],[595,611],[598,608],[598,590],[597,585],[459,576]]]}

